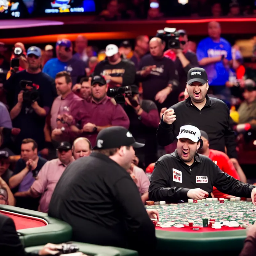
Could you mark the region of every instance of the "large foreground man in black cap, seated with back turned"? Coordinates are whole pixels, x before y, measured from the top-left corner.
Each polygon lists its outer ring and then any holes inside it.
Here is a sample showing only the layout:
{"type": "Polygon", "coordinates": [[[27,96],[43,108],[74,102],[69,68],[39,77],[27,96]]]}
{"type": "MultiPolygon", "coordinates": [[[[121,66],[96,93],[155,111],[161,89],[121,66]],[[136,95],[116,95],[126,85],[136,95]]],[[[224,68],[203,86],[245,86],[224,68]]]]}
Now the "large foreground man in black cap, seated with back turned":
{"type": "Polygon", "coordinates": [[[154,255],[156,238],[150,218],[154,214],[158,217],[158,212],[146,212],[127,172],[134,158],[133,148],[142,146],[124,127],[109,127],[99,132],[90,156],[66,168],[48,214],[72,226],[74,241],[154,255]]]}

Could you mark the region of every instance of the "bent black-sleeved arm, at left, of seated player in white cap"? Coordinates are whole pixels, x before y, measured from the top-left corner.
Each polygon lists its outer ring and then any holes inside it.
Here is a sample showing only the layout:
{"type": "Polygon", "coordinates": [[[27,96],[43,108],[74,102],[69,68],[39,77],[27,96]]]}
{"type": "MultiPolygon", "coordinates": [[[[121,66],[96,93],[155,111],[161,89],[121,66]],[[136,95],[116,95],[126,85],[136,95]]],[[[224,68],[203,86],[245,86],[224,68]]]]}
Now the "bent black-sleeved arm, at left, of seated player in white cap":
{"type": "Polygon", "coordinates": [[[162,161],[157,161],[154,171],[150,177],[149,199],[153,201],[171,202],[173,199],[186,200],[190,189],[181,187],[170,187],[167,183],[170,180],[170,170],[162,161]]]}

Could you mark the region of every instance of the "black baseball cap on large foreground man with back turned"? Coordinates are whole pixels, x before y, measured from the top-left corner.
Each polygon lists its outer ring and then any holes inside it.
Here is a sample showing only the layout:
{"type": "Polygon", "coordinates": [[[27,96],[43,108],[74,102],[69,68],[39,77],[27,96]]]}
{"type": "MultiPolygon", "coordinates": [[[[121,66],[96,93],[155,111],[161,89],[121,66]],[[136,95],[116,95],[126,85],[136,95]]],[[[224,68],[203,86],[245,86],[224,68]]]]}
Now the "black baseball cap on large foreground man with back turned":
{"type": "Polygon", "coordinates": [[[98,133],[96,146],[93,150],[119,148],[121,146],[141,148],[145,146],[145,144],[136,142],[130,131],[126,128],[122,126],[112,126],[98,133]]]}

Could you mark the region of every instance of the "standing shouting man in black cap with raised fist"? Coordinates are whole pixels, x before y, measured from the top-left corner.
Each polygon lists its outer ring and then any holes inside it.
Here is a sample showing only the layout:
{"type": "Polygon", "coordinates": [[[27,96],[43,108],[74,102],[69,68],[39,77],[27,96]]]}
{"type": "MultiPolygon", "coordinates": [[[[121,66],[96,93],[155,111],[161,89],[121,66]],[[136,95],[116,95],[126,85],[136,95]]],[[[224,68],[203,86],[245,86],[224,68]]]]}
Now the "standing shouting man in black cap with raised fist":
{"type": "Polygon", "coordinates": [[[227,105],[216,98],[209,98],[206,71],[192,68],[187,75],[186,90],[189,98],[165,110],[157,130],[158,142],[167,146],[174,141],[179,127],[193,124],[207,132],[210,148],[225,152],[230,158],[237,158],[236,142],[230,128],[230,116],[227,105]]]}

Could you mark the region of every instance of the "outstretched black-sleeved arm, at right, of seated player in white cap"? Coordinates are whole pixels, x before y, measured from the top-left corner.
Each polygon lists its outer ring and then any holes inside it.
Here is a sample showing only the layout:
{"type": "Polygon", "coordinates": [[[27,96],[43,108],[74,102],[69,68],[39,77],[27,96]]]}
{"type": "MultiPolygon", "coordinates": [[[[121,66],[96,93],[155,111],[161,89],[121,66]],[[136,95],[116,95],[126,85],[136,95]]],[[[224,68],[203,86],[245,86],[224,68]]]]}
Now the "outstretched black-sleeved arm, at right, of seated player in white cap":
{"type": "Polygon", "coordinates": [[[238,197],[251,197],[251,191],[255,186],[243,183],[230,175],[224,173],[216,164],[212,163],[214,173],[214,183],[219,191],[225,194],[234,195],[238,197]]]}

